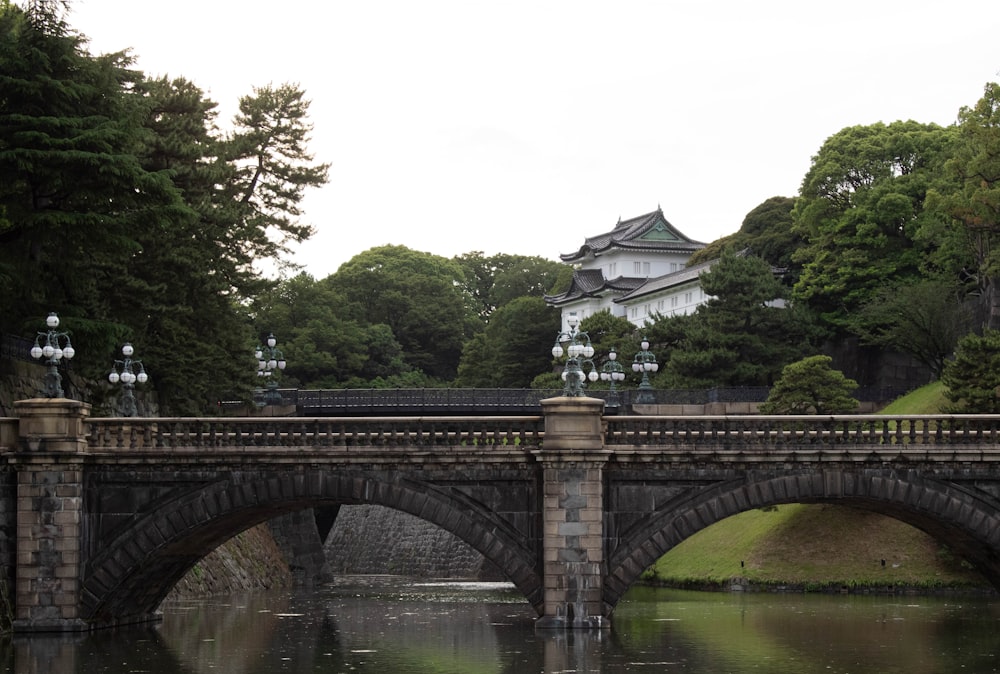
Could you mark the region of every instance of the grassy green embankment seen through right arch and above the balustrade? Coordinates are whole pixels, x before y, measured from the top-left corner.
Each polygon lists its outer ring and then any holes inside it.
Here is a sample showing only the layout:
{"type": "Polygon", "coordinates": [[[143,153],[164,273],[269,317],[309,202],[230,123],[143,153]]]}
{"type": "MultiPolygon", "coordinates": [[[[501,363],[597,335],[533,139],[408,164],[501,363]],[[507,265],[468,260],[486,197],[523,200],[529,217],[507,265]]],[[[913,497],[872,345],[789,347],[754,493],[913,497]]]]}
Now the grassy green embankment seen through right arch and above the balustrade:
{"type": "MultiPolygon", "coordinates": [[[[935,414],[946,404],[929,384],[885,408],[935,414]]],[[[843,506],[792,504],[751,510],[704,529],[661,557],[644,579],[689,588],[932,591],[991,586],[927,534],[843,506]],[[884,565],[883,565],[884,560],[884,565]]]]}

